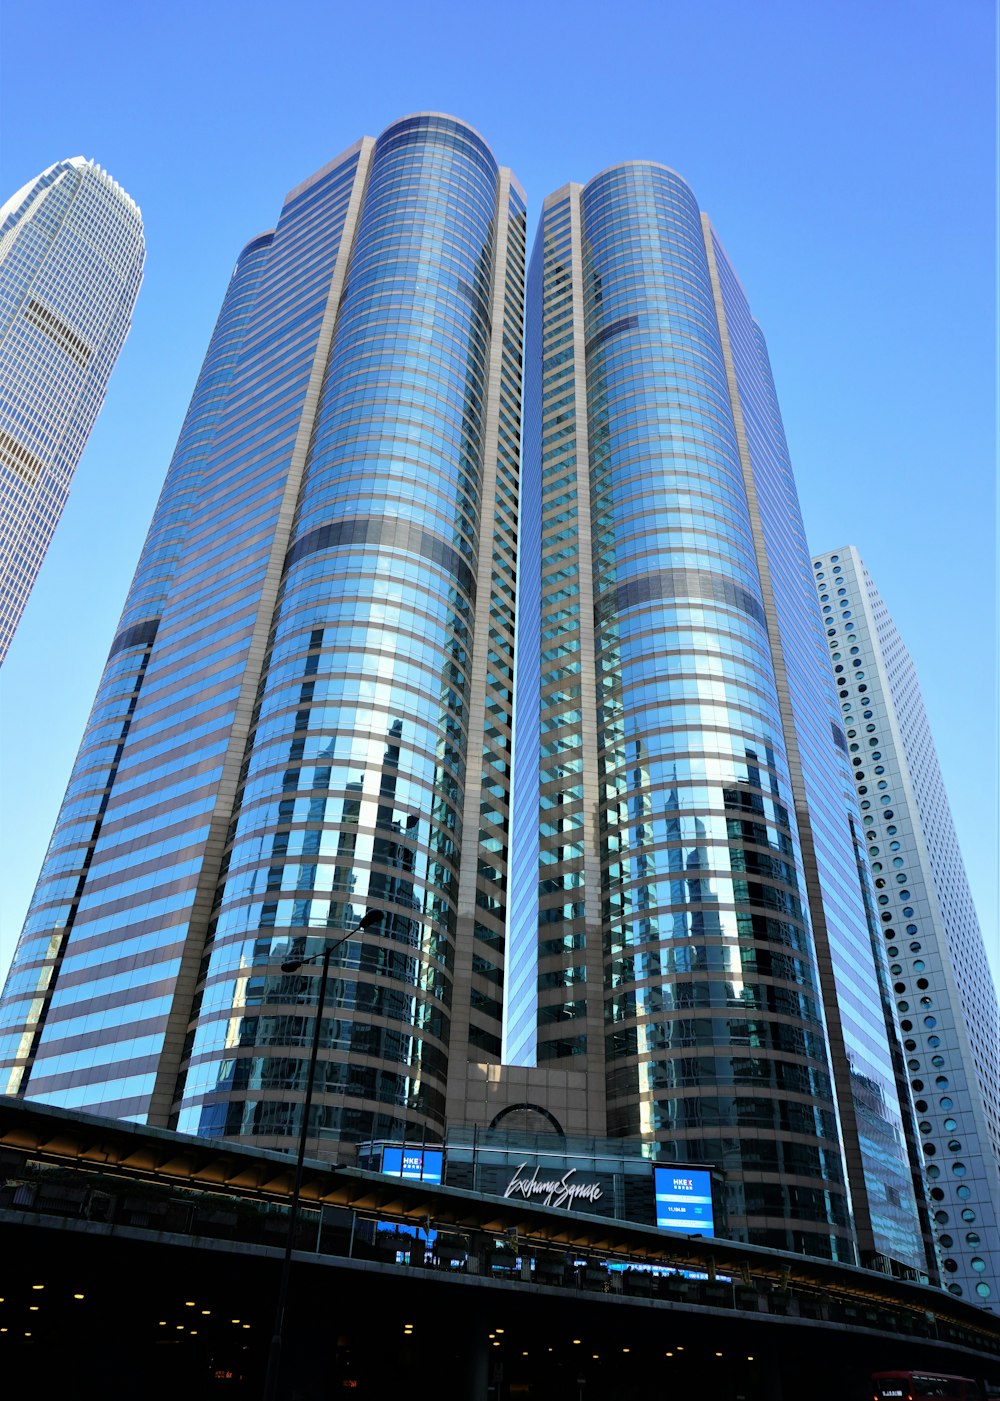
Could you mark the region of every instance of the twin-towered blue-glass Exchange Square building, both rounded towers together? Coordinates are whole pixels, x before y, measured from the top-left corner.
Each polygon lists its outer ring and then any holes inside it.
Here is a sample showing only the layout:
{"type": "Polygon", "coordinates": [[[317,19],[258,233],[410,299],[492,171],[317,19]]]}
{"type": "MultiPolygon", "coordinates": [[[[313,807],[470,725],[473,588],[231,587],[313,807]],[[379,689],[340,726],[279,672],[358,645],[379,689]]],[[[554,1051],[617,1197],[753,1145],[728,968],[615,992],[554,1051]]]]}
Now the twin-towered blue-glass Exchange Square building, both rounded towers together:
{"type": "Polygon", "coordinates": [[[237,262],[4,993],[7,1093],[290,1149],[317,976],[282,962],[377,909],[314,1152],[627,1140],[710,1168],[735,1238],[933,1274],[811,574],[682,179],[557,191],[525,276],[473,130],[364,139],[237,262]]]}

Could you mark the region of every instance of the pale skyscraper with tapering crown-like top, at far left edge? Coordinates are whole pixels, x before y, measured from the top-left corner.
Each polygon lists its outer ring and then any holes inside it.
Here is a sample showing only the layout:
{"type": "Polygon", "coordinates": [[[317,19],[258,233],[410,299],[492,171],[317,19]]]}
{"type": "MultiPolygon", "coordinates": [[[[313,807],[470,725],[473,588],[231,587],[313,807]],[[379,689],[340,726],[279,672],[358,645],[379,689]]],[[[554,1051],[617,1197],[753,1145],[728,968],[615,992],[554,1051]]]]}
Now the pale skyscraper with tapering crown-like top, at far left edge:
{"type": "Polygon", "coordinates": [[[0,663],[129,333],[144,247],[136,203],[81,156],[0,207],[0,663]]]}

